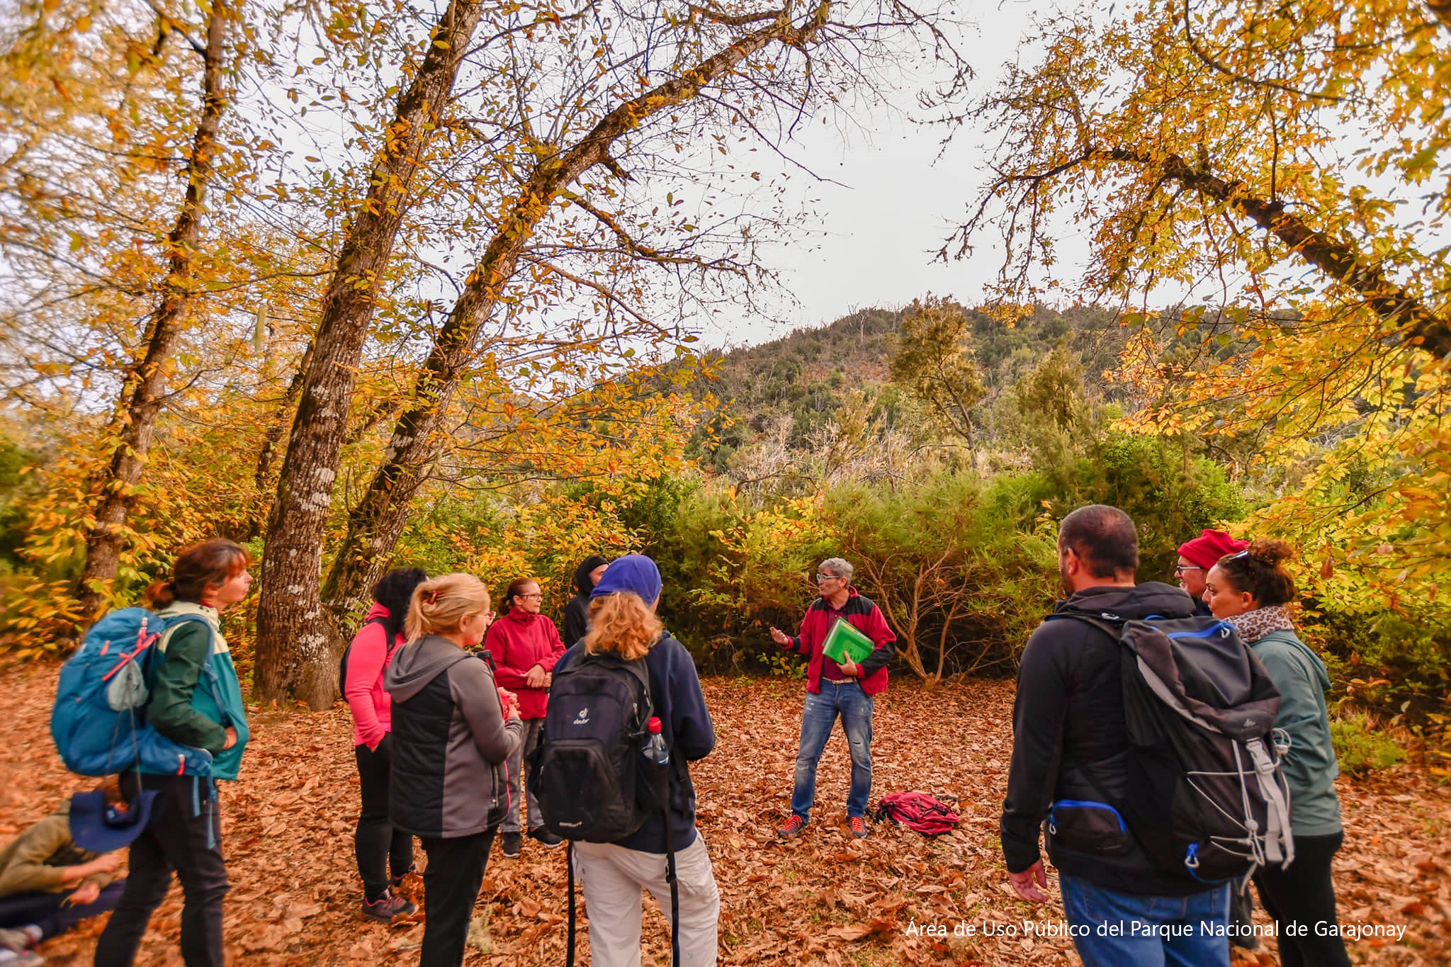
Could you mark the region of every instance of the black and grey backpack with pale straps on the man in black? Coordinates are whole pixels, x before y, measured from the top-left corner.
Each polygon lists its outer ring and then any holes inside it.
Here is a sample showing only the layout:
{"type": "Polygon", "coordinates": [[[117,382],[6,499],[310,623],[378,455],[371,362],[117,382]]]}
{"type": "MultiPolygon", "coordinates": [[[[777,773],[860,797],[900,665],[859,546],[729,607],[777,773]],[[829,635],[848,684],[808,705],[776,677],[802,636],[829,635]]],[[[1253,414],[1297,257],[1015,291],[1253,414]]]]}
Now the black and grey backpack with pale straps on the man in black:
{"type": "MultiPolygon", "coordinates": [[[[1053,618],[1085,621],[1122,645],[1132,751],[1122,819],[1149,857],[1206,883],[1288,866],[1290,790],[1280,774],[1288,738],[1274,728],[1280,690],[1233,625],[1109,612],[1053,618]]],[[[1077,822],[1094,812],[1087,806],[1101,803],[1053,803],[1049,834],[1058,834],[1059,809],[1077,822]]]]}

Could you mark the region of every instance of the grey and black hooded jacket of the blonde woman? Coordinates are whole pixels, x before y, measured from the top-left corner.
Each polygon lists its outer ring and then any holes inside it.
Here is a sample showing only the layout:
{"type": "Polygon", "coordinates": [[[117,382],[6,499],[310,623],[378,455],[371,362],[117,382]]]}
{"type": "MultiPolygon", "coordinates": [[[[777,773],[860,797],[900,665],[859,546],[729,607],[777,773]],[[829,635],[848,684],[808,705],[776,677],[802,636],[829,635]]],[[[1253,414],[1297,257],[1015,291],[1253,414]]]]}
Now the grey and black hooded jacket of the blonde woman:
{"type": "Polygon", "coordinates": [[[385,686],[393,696],[387,810],[395,826],[450,839],[485,832],[518,809],[505,764],[524,723],[505,722],[488,663],[424,635],[393,652],[385,686]]]}

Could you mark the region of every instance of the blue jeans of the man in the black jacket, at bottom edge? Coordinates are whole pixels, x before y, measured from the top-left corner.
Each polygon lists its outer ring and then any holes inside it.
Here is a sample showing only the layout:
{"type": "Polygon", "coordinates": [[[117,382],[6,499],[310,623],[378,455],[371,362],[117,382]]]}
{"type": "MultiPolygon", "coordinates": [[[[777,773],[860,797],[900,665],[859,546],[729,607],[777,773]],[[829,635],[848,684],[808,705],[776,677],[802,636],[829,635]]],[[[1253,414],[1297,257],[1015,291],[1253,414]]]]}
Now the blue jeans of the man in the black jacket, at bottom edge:
{"type": "Polygon", "coordinates": [[[1058,887],[1084,967],[1229,967],[1228,883],[1193,896],[1136,896],[1059,874],[1058,887]]]}

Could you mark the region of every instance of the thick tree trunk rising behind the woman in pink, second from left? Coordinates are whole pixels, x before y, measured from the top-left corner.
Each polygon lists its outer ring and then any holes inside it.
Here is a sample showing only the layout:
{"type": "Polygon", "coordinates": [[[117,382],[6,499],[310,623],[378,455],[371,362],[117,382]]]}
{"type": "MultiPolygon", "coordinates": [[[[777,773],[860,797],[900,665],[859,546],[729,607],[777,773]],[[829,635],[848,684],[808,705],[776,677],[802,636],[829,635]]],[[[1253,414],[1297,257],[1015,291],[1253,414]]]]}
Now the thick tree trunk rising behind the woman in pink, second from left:
{"type": "Polygon", "coordinates": [[[431,32],[424,62],[399,97],[367,200],[347,229],[322,299],[322,318],[303,370],[297,413],[267,520],[254,680],[261,699],[297,696],[321,709],[337,694],[332,655],[340,651],[338,631],[322,607],[319,580],[353,371],[361,360],[379,280],[411,204],[419,158],[441,129],[440,115],[482,13],[479,3],[451,0],[431,32]]]}

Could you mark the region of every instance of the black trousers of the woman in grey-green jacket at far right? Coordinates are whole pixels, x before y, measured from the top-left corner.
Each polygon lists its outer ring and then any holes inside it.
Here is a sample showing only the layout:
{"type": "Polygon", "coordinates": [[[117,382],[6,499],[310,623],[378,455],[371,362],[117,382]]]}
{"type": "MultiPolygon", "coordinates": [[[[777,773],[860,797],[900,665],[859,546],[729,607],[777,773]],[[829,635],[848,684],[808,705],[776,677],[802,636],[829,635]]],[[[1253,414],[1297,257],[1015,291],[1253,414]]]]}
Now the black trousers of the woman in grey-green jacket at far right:
{"type": "Polygon", "coordinates": [[[1261,868],[1255,873],[1259,902],[1278,928],[1280,967],[1349,967],[1345,942],[1339,937],[1316,937],[1320,921],[1335,924],[1335,884],[1331,858],[1341,848],[1345,834],[1296,837],[1294,863],[1288,870],[1261,868]],[[1296,925],[1294,937],[1286,926],[1296,925]],[[1300,937],[1300,932],[1304,932],[1300,937]]]}

